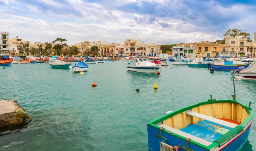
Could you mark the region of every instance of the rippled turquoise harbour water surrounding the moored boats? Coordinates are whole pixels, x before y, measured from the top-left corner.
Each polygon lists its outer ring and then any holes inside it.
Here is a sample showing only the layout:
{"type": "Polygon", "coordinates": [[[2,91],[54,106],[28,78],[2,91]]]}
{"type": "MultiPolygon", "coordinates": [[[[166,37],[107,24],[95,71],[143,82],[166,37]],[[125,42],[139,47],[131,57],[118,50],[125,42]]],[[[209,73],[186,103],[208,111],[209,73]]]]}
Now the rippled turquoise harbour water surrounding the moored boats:
{"type": "MultiPolygon", "coordinates": [[[[48,64],[1,67],[0,99],[17,100],[34,119],[20,130],[0,133],[1,151],[147,151],[147,122],[206,101],[210,94],[213,99],[233,94],[229,72],[168,62],[158,76],[128,72],[127,64],[89,64],[84,75],[48,64]]],[[[237,99],[246,105],[252,101],[254,111],[255,90],[256,81],[236,82],[237,99]]],[[[255,136],[251,128],[241,150],[256,150],[255,136]]]]}

